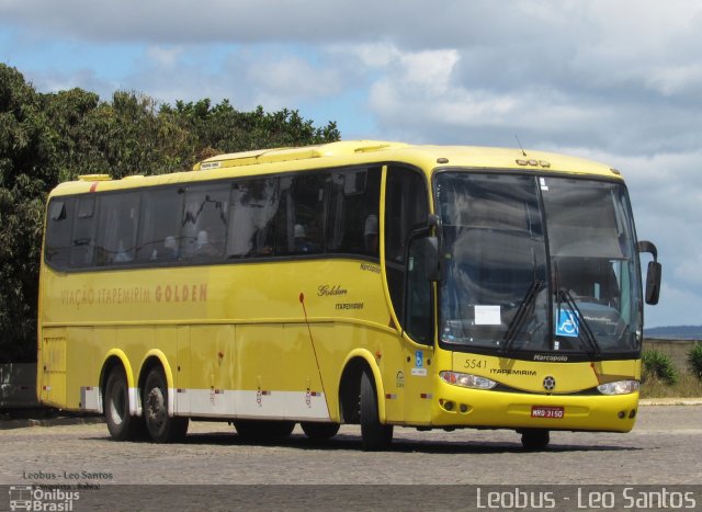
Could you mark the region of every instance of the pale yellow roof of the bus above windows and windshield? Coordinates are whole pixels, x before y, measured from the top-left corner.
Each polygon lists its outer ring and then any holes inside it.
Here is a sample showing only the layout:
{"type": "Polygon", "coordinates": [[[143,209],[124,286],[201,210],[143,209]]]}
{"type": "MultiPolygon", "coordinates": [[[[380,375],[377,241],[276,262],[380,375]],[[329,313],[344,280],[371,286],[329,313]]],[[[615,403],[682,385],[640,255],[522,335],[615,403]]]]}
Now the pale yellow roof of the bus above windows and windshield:
{"type": "Polygon", "coordinates": [[[554,152],[477,146],[414,146],[384,140],[349,140],[296,148],[258,149],[218,155],[193,166],[196,172],[111,180],[107,174],[82,175],[58,185],[52,194],[188,183],[234,177],[322,169],[328,167],[405,162],[431,172],[435,168],[512,169],[545,173],[590,174],[621,179],[620,172],[592,160],[554,152]]]}

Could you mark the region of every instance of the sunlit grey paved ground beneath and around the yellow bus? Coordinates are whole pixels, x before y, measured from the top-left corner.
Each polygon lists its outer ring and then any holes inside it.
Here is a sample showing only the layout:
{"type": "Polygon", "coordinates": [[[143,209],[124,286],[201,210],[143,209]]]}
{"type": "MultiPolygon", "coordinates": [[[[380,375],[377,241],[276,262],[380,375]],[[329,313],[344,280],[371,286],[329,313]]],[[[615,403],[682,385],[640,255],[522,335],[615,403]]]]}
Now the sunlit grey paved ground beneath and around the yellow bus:
{"type": "Polygon", "coordinates": [[[632,432],[553,432],[543,452],[507,430],[397,428],[366,453],[358,425],[257,445],[197,421],[159,445],[115,442],[99,417],[5,420],[0,510],[22,489],[36,510],[701,510],[701,405],[644,400],[632,432]]]}

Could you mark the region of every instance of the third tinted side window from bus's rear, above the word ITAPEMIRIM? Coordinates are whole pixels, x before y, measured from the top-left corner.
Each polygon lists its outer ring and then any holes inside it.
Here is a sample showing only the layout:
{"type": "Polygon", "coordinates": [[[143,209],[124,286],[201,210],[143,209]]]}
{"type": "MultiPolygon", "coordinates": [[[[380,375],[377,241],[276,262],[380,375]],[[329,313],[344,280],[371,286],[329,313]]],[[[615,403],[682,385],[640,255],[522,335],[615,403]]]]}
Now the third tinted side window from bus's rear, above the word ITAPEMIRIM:
{"type": "Polygon", "coordinates": [[[112,265],[134,261],[139,193],[100,196],[95,264],[112,265]]]}

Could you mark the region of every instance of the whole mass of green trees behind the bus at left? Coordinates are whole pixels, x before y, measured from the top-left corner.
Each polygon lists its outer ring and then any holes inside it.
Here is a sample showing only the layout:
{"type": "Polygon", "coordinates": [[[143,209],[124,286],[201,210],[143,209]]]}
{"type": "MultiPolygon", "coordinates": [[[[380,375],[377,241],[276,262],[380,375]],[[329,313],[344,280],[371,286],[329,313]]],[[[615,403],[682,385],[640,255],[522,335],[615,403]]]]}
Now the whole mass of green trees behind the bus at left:
{"type": "Polygon", "coordinates": [[[38,268],[46,195],[80,174],[160,174],[203,158],[339,140],[295,110],[237,111],[227,100],[159,105],[135,92],[111,101],[71,89],[42,94],[0,64],[0,363],[36,356],[38,268]]]}

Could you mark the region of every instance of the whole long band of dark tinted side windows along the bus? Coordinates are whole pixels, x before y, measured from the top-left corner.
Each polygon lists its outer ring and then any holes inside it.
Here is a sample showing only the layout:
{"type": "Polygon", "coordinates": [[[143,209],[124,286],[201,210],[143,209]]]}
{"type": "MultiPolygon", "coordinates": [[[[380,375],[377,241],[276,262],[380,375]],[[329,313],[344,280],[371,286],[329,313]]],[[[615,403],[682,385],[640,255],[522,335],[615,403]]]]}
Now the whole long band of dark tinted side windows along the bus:
{"type": "Polygon", "coordinates": [[[378,255],[381,168],[55,198],[46,261],[88,269],[306,254],[378,255]]]}

